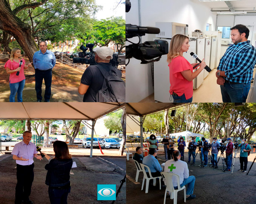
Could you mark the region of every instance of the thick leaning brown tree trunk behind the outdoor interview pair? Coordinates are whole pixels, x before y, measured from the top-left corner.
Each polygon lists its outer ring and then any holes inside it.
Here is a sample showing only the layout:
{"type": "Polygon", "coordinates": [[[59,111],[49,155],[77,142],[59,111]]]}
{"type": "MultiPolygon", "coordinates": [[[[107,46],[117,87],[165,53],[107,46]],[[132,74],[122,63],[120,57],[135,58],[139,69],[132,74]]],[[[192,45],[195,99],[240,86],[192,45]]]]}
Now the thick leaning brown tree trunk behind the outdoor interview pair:
{"type": "Polygon", "coordinates": [[[30,26],[23,23],[11,11],[6,0],[0,0],[0,29],[11,34],[27,54],[29,61],[33,61],[33,55],[38,50],[31,35],[30,26]]]}

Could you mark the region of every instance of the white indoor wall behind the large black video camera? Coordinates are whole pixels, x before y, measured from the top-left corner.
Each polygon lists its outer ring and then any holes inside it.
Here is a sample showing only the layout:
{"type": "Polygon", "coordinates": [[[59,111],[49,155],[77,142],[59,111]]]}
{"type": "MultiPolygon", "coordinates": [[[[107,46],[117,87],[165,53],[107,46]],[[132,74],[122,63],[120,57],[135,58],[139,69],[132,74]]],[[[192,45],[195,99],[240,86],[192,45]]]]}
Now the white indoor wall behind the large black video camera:
{"type": "MultiPolygon", "coordinates": [[[[131,9],[126,13],[126,23],[139,25],[138,2],[130,0],[131,9]]],[[[206,30],[206,23],[216,26],[216,14],[203,3],[191,0],[141,0],[141,26],[155,27],[155,22],[188,24],[189,35],[195,29],[206,30]]],[[[146,34],[142,42],[153,40],[154,34],[146,34]]],[[[137,38],[130,39],[138,42],[137,38]]],[[[129,43],[127,43],[128,45],[129,43]]],[[[141,65],[140,60],[130,59],[126,67],[126,102],[139,102],[154,92],[150,64],[141,65]]]]}

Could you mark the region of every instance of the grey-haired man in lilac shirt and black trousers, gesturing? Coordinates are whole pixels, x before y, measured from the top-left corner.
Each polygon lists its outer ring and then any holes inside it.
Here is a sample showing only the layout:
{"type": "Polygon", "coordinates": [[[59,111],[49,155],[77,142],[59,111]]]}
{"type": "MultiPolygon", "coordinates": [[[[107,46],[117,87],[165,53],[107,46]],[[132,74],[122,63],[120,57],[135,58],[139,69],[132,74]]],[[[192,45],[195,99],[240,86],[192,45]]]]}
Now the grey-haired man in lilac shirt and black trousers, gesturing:
{"type": "Polygon", "coordinates": [[[34,160],[42,159],[37,155],[36,145],[31,141],[31,131],[23,133],[23,141],[14,145],[12,150],[12,158],[16,160],[17,164],[17,185],[15,188],[15,204],[32,204],[29,199],[31,193],[31,186],[34,180],[34,160]]]}

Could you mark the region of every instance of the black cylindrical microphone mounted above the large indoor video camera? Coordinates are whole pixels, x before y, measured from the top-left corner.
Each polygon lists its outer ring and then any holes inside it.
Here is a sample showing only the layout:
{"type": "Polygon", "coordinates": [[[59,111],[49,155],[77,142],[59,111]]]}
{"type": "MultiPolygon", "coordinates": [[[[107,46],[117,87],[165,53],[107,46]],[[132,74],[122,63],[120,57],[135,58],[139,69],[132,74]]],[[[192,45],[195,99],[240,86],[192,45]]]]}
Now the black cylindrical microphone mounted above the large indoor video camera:
{"type": "Polygon", "coordinates": [[[158,34],[160,32],[159,28],[155,27],[142,27],[132,24],[125,25],[126,38],[132,38],[135,36],[144,36],[147,34],[158,34]]]}

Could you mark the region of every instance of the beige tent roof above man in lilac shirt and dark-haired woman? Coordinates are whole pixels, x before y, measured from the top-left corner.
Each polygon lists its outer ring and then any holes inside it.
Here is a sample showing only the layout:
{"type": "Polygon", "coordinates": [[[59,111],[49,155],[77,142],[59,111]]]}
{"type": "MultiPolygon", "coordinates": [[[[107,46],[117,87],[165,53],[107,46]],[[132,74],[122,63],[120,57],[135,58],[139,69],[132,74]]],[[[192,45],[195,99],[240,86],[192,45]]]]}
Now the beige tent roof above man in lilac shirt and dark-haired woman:
{"type": "Polygon", "coordinates": [[[118,102],[2,102],[0,119],[96,120],[124,105],[118,102]]]}

